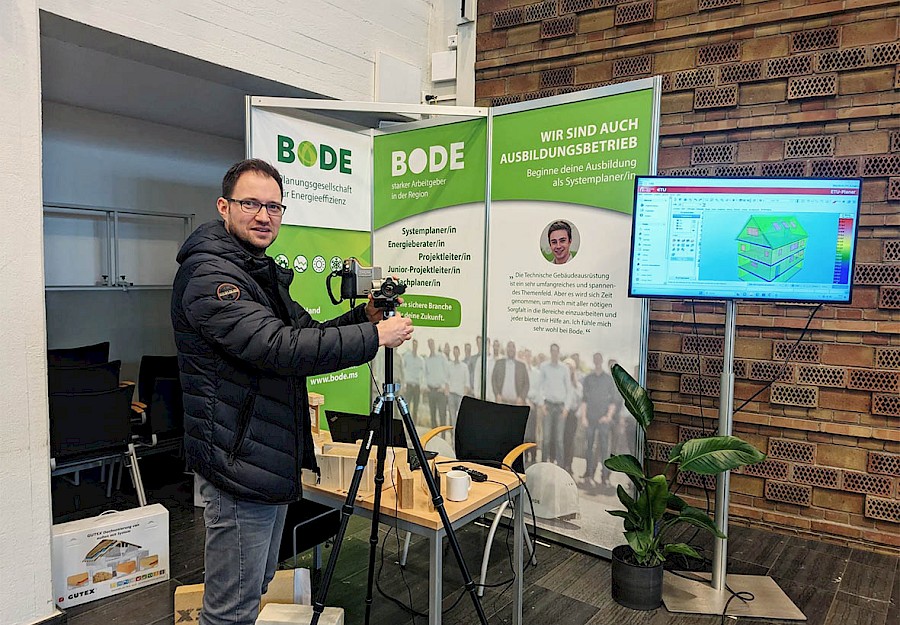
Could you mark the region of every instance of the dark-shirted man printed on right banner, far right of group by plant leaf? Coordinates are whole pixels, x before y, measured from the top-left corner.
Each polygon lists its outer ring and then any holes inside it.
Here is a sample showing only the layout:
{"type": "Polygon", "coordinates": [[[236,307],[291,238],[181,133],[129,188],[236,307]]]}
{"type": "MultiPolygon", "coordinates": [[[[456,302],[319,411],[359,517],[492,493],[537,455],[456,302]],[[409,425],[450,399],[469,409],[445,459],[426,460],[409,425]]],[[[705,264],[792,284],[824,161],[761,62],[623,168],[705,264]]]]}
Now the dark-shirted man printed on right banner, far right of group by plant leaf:
{"type": "MultiPolygon", "coordinates": [[[[610,455],[613,417],[618,409],[616,383],[603,370],[601,354],[594,354],[594,370],[585,376],[582,388],[584,416],[581,423],[585,429],[584,459],[587,468],[581,477],[584,486],[593,488],[597,485],[594,481],[597,465],[610,455]]],[[[605,464],[602,467],[600,481],[606,486],[609,485],[609,469],[605,464]]]]}

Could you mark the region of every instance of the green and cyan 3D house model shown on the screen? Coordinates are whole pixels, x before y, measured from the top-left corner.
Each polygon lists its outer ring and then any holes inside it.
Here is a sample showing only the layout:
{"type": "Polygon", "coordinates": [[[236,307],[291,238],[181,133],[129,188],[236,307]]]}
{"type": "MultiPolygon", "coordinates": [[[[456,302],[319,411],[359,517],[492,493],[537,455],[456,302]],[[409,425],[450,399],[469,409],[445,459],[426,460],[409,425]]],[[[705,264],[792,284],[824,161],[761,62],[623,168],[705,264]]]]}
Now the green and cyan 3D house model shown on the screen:
{"type": "Polygon", "coordinates": [[[738,235],[738,277],[764,282],[790,280],[803,268],[806,230],[793,215],[754,215],[738,235]]]}

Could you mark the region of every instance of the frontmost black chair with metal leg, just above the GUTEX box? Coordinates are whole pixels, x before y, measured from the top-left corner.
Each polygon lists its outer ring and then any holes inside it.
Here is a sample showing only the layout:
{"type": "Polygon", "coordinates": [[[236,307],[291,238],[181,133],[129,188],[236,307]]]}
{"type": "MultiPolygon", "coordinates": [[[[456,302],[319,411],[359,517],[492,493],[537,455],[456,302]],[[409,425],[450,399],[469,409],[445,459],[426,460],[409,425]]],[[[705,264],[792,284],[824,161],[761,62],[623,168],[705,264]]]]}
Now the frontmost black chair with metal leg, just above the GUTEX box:
{"type": "MultiPolygon", "coordinates": [[[[131,442],[130,385],[92,393],[50,395],[51,475],[65,475],[121,458],[131,472],[141,506],[144,484],[131,442]]],[[[107,486],[107,496],[112,479],[107,486]]]]}

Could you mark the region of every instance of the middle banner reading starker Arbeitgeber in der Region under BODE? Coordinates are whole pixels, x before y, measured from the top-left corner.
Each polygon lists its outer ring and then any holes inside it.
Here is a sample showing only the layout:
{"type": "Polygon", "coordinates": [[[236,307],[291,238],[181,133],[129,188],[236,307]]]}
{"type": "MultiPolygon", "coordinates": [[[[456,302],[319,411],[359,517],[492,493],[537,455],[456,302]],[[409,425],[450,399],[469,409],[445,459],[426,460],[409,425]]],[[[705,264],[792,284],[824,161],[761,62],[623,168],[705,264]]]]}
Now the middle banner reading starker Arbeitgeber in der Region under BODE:
{"type": "MultiPolygon", "coordinates": [[[[408,285],[399,310],[416,326],[415,341],[395,354],[395,381],[424,426],[455,421],[473,385],[484,308],[486,128],[477,119],[374,137],[375,263],[408,285]]],[[[381,383],[381,357],[378,364],[381,383]]]]}

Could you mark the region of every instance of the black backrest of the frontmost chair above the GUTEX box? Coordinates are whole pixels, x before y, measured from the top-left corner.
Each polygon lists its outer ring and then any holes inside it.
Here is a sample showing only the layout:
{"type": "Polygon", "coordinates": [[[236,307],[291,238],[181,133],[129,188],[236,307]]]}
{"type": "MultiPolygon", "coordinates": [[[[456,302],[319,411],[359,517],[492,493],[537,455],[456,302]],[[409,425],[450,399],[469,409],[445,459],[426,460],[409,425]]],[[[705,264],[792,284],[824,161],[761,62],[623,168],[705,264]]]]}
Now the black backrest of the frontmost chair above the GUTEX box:
{"type": "Polygon", "coordinates": [[[50,455],[58,461],[125,451],[131,441],[131,386],[50,395],[50,455]]]}

